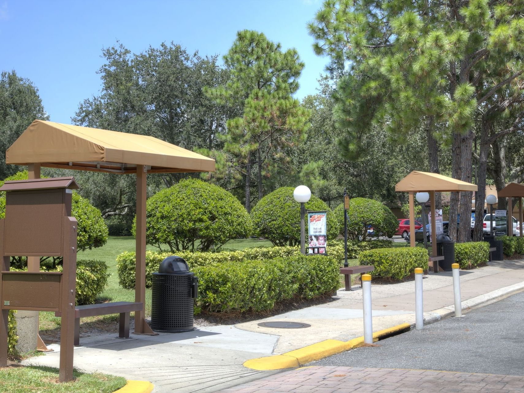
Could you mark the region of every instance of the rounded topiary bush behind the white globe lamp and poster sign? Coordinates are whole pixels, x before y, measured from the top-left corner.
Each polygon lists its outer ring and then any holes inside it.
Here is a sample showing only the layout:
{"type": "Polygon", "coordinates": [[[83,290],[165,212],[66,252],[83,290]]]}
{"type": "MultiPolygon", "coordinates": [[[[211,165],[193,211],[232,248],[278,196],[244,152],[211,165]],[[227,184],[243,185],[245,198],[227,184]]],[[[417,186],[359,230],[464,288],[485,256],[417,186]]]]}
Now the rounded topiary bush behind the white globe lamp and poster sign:
{"type": "MultiPolygon", "coordinates": [[[[281,187],[271,192],[264,196],[251,212],[256,234],[265,237],[276,246],[300,244],[300,203],[294,200],[293,190],[292,187],[281,187]]],[[[328,240],[339,235],[339,223],[325,202],[311,195],[305,209],[327,211],[328,240]]],[[[307,225],[305,231],[307,234],[307,225]]]]}

